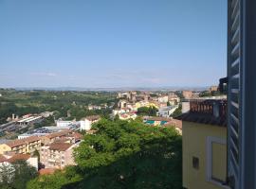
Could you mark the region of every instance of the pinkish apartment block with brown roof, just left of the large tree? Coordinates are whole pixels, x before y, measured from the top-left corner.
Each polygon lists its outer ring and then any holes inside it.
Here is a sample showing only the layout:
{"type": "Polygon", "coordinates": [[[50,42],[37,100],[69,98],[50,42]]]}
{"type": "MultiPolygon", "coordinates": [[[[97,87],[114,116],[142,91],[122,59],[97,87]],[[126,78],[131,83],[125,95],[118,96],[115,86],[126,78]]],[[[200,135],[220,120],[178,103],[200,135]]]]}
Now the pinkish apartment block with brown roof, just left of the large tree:
{"type": "Polygon", "coordinates": [[[73,150],[79,144],[52,143],[42,146],[40,151],[40,162],[45,168],[63,169],[67,165],[75,165],[73,150]]]}

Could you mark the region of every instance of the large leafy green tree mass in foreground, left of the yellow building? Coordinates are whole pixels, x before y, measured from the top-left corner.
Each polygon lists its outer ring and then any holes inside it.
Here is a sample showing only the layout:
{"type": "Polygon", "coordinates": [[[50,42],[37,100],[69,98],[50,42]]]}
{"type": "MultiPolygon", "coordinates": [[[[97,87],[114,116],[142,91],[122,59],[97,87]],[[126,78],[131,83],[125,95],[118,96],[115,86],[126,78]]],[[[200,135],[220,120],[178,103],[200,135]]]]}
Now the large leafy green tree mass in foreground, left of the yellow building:
{"type": "Polygon", "coordinates": [[[30,180],[28,189],[182,188],[181,136],[173,128],[102,119],[75,150],[77,166],[30,180]]]}

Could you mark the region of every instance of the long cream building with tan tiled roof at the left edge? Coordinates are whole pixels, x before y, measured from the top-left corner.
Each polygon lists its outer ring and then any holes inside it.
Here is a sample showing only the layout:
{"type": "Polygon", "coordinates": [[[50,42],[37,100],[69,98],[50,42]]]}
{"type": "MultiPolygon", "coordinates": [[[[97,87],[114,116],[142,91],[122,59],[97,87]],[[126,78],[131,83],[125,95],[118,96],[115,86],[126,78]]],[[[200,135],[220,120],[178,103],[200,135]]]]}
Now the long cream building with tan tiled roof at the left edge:
{"type": "Polygon", "coordinates": [[[41,138],[38,136],[31,136],[26,139],[17,139],[9,141],[8,143],[0,145],[0,154],[6,152],[14,152],[20,154],[32,153],[39,150],[41,147],[41,138]]]}

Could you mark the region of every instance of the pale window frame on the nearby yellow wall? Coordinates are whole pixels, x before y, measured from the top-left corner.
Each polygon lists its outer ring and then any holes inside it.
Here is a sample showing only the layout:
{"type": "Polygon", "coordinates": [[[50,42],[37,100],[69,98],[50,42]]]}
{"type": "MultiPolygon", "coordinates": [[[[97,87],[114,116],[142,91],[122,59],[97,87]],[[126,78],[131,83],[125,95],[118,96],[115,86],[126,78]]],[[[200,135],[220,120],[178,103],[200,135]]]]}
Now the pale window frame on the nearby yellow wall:
{"type": "Polygon", "coordinates": [[[207,181],[215,185],[221,186],[222,188],[229,189],[228,185],[224,185],[222,182],[217,180],[212,180],[212,144],[227,146],[227,139],[222,139],[213,136],[207,137],[207,181]]]}

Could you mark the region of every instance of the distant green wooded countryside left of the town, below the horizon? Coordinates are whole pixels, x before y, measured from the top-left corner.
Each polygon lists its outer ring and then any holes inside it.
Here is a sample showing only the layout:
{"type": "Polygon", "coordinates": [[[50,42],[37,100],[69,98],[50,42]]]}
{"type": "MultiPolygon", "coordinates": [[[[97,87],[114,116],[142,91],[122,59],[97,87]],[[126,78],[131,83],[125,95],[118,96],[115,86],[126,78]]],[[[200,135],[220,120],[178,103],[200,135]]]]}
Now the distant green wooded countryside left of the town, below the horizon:
{"type": "Polygon", "coordinates": [[[81,119],[83,116],[101,114],[110,109],[89,111],[88,105],[114,106],[117,103],[115,93],[108,92],[55,92],[55,91],[16,91],[0,89],[0,124],[4,124],[12,113],[24,115],[27,113],[56,112],[55,118],[66,117],[81,119]]]}

